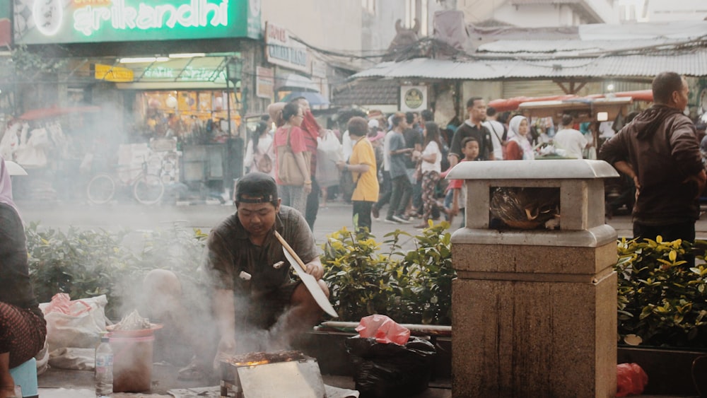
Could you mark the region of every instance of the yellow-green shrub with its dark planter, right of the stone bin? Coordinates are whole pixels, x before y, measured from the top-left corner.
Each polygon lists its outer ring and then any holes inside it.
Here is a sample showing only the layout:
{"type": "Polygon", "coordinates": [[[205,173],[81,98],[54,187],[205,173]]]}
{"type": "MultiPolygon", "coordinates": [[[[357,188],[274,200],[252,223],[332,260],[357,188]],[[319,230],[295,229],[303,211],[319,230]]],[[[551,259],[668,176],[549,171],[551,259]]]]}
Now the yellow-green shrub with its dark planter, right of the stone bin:
{"type": "Polygon", "coordinates": [[[619,363],[648,373],[646,394],[694,395],[692,363],[707,355],[707,242],[619,240],[619,363]],[[698,261],[700,262],[700,261],[698,261]]]}

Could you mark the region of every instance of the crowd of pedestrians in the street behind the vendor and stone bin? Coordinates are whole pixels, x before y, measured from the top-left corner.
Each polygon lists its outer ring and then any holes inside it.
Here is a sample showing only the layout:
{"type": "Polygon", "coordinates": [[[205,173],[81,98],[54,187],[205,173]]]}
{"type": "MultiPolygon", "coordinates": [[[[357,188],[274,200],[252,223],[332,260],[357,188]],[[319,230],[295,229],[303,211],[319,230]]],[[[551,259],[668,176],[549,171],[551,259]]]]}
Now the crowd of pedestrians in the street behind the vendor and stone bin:
{"type": "Polygon", "coordinates": [[[555,133],[551,121],[496,112],[480,97],[469,98],[467,113],[459,126],[440,127],[431,110],[361,112],[340,120],[341,132],[320,127],[305,98],[274,103],[252,132],[244,166],[274,177],[284,204],[303,213],[310,228],[334,194],[353,204],[356,230],[371,231],[373,220],[417,220],[415,227],[425,228],[430,220],[452,222],[463,211],[463,185],[445,180],[460,161],[584,158],[595,141],[571,115],[563,116],[555,133]],[[291,165],[305,176],[296,185],[279,175],[280,158],[289,151],[296,159],[291,165]]]}

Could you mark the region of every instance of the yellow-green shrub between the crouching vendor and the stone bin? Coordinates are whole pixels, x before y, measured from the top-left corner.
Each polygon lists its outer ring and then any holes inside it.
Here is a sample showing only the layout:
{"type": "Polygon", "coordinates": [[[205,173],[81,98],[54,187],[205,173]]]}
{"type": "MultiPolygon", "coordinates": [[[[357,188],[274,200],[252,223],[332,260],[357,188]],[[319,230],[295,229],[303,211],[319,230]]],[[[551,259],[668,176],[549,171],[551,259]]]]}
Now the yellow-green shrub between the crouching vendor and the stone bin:
{"type": "Polygon", "coordinates": [[[409,233],[385,235],[385,254],[368,232],[343,228],[327,236],[322,264],[330,300],[341,320],[372,314],[400,323],[451,324],[452,268],[448,223],[433,224],[414,236],[416,250],[402,252],[409,233]]]}

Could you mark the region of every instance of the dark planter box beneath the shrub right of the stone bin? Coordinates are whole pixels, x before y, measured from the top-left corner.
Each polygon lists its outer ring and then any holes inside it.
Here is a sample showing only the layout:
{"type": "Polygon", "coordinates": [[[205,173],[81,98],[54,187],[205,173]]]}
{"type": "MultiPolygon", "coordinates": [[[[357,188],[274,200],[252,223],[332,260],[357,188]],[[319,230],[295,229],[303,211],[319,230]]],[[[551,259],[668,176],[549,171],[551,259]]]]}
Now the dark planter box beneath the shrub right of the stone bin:
{"type": "Polygon", "coordinates": [[[648,374],[646,395],[691,395],[697,390],[692,380],[692,362],[707,351],[619,346],[618,363],[638,363],[648,374]]]}

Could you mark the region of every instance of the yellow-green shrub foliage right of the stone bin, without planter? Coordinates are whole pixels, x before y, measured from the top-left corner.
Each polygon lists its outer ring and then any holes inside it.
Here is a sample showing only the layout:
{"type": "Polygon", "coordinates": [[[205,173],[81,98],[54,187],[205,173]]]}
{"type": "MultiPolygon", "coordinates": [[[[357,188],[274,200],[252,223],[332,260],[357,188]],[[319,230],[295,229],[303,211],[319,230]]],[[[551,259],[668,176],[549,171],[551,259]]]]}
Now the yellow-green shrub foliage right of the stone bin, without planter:
{"type": "Polygon", "coordinates": [[[620,341],[635,335],[647,346],[707,346],[707,267],[684,260],[692,252],[704,260],[706,248],[704,241],[619,240],[620,341]]]}

